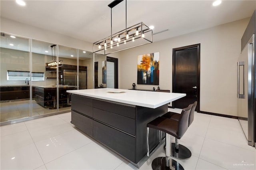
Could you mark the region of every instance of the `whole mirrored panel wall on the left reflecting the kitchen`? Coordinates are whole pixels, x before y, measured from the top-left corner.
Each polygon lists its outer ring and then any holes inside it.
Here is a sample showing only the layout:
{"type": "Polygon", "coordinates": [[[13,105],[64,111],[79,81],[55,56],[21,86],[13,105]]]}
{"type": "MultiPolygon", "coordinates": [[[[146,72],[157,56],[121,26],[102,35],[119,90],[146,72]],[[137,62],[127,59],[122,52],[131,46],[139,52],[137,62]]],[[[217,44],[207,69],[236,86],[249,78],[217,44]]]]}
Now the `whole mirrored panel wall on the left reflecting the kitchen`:
{"type": "Polygon", "coordinates": [[[0,40],[1,123],[70,111],[67,90],[106,87],[105,55],[3,32],[0,40]]]}

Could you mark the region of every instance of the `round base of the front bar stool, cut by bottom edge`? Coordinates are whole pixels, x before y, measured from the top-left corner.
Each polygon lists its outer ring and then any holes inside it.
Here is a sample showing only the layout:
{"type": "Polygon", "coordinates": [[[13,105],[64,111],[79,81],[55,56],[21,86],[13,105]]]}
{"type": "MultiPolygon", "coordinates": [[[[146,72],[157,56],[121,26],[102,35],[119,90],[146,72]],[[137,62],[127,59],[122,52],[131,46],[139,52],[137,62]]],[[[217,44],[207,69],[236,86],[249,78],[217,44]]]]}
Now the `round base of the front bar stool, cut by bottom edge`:
{"type": "Polygon", "coordinates": [[[173,159],[170,159],[170,167],[167,167],[165,157],[155,158],[152,162],[152,169],[153,170],[184,170],[181,164],[173,159]]]}

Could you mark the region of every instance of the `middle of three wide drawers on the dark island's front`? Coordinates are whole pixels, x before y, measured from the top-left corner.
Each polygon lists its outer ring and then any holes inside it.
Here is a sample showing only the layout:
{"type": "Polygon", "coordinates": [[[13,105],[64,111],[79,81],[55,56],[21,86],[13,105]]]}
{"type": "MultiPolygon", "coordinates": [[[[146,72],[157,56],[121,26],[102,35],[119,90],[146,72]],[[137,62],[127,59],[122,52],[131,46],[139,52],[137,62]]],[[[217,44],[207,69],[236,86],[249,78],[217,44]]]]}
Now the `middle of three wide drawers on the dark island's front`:
{"type": "Polygon", "coordinates": [[[93,118],[135,136],[135,120],[93,108],[93,118]]]}

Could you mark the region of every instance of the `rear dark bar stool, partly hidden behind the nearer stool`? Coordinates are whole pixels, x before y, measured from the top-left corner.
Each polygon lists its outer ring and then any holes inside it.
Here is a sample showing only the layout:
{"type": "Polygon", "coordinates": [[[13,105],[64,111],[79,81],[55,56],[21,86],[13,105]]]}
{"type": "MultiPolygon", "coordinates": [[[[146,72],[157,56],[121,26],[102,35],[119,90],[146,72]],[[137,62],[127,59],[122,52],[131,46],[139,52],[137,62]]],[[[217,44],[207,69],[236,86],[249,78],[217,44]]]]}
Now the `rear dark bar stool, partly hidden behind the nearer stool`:
{"type": "MultiPolygon", "coordinates": [[[[195,112],[195,109],[196,109],[196,105],[197,105],[196,101],[193,104],[190,105],[191,110],[190,110],[190,114],[189,114],[189,118],[188,118],[188,127],[191,125],[191,123],[194,120],[194,112],[195,112]]],[[[162,117],[164,117],[164,118],[173,119],[173,120],[176,120],[176,121],[178,121],[180,119],[180,116],[181,116],[181,114],[175,113],[175,112],[168,112],[168,113],[162,115],[162,117]]],[[[192,156],[192,153],[186,146],[183,146],[182,144],[179,144],[178,139],[175,138],[175,143],[171,144],[171,156],[173,158],[186,160],[186,159],[189,159],[192,156]],[[176,152],[178,154],[176,154],[176,152]]]]}

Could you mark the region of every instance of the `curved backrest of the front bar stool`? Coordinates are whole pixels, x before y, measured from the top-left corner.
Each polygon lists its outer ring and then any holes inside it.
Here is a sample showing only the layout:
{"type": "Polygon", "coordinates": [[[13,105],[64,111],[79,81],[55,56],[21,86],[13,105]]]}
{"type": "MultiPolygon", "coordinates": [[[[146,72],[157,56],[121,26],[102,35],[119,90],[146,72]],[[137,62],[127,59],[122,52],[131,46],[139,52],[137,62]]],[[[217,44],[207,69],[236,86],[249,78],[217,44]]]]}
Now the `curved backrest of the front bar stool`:
{"type": "Polygon", "coordinates": [[[180,119],[178,121],[178,137],[177,137],[178,139],[180,139],[188,129],[188,118],[189,118],[191,108],[192,108],[192,105],[189,105],[185,109],[182,109],[182,112],[180,114],[180,119]]]}

